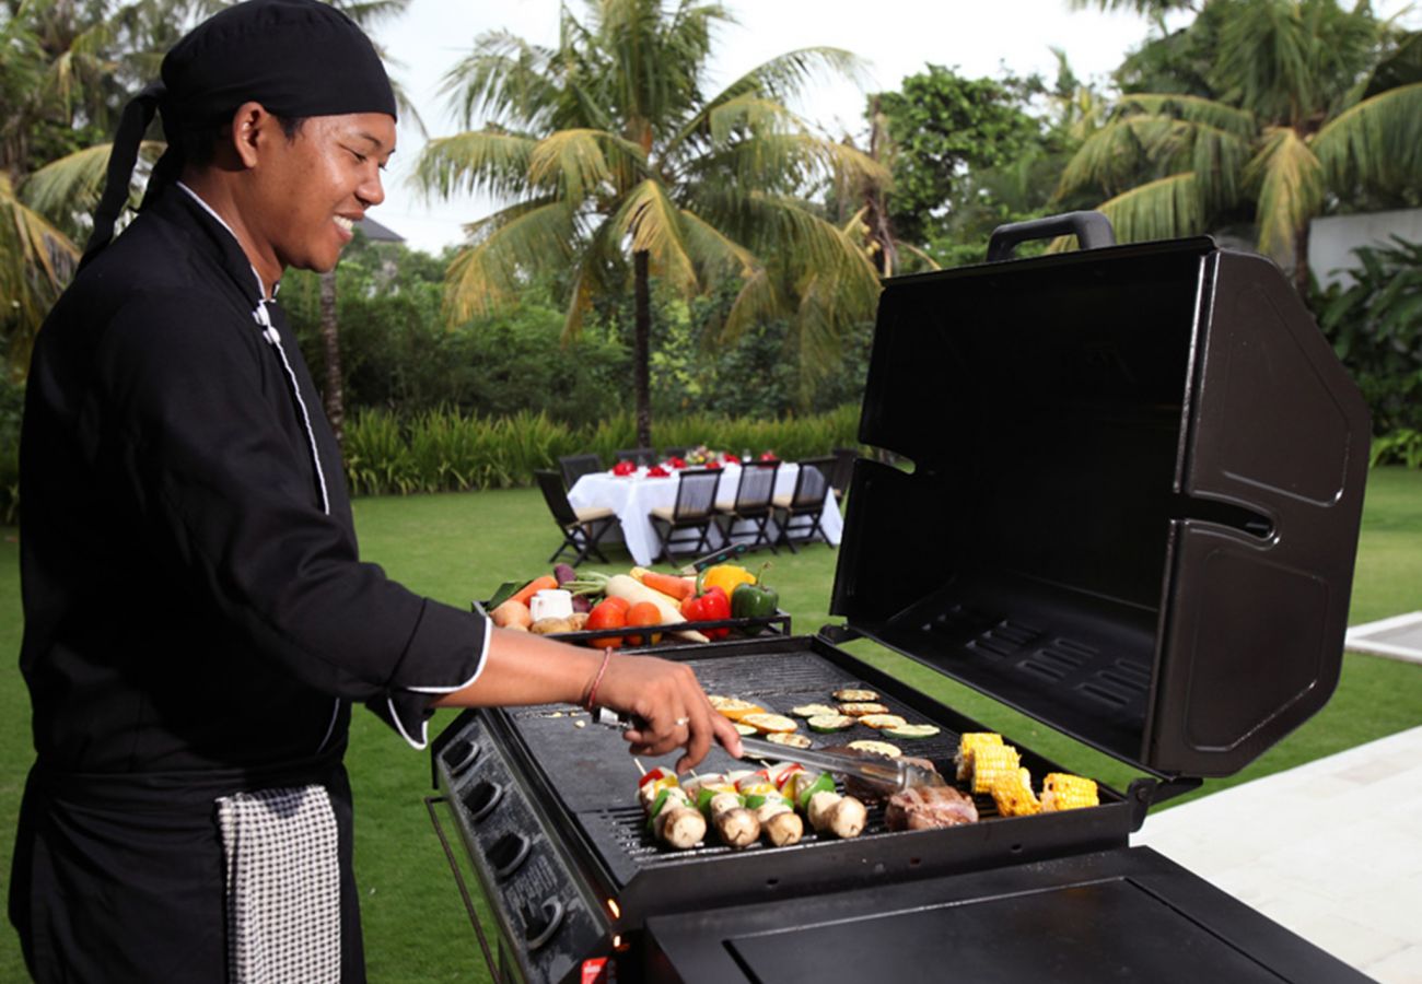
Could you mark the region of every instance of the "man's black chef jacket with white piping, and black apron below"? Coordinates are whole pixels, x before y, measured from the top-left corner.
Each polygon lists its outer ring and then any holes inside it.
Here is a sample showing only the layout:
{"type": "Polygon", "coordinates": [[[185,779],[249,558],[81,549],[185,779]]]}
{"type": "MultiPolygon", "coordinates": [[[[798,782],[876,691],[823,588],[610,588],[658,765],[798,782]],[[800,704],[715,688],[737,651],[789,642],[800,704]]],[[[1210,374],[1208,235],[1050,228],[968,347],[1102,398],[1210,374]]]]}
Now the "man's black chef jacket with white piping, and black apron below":
{"type": "MultiPolygon", "coordinates": [[[[201,909],[178,902],[149,940],[124,893],[135,869],[158,880],[154,899],[191,894],[192,872],[220,890],[212,799],[228,792],[328,785],[348,876],[348,702],[422,747],[431,694],[482,667],[483,619],[360,562],[296,340],[236,239],[181,186],[80,272],[38,334],[20,538],[37,762],[11,917],[31,957],[98,934],[141,958],[212,931],[166,924],[201,909]],[[98,907],[73,911],[85,904],[98,907]]],[[[216,904],[199,919],[220,917],[216,904]]],[[[125,958],[95,967],[122,978],[125,958]]],[[[166,978],[201,980],[188,968],[210,958],[176,954],[166,978]]]]}

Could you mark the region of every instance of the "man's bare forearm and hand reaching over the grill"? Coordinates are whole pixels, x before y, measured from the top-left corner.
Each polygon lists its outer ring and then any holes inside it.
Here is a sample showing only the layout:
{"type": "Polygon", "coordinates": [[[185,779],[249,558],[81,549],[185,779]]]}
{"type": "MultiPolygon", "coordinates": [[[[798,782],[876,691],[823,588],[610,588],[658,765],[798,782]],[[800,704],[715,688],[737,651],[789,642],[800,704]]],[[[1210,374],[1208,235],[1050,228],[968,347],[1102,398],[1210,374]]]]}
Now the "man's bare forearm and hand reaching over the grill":
{"type": "Polygon", "coordinates": [[[634,755],[665,755],[684,747],[678,772],[704,759],[712,741],[741,755],[735,727],[711,707],[695,674],[683,663],[613,653],[602,670],[602,651],[508,629],[492,633],[479,677],[462,690],[441,694],[434,707],[586,704],[596,680],[599,707],[643,722],[626,734],[634,755]]]}

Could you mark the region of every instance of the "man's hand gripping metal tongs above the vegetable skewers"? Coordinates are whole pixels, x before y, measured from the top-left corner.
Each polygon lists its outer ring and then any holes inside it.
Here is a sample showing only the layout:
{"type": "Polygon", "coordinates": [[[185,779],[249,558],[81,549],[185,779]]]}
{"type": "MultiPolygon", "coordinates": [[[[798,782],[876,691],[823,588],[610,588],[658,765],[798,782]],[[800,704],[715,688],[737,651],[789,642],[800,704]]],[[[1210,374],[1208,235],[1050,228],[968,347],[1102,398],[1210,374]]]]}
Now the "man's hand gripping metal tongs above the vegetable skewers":
{"type": "Polygon", "coordinates": [[[711,707],[697,675],[684,663],[614,654],[597,685],[597,702],[641,722],[624,735],[633,755],[665,755],[685,747],[677,772],[704,759],[712,741],[741,756],[735,725],[711,707]]]}

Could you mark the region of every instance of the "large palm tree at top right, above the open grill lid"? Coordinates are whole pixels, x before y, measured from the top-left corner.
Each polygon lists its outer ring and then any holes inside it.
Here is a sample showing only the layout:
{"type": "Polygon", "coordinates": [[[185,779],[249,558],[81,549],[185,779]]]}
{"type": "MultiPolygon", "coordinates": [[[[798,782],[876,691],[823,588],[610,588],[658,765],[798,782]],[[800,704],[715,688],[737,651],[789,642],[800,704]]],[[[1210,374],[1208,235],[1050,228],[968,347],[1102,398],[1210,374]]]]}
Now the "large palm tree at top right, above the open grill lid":
{"type": "Polygon", "coordinates": [[[1422,178],[1422,41],[1399,44],[1365,4],[1335,0],[1210,0],[1203,14],[1219,31],[1213,98],[1122,97],[1058,199],[1105,193],[1098,208],[1128,242],[1251,219],[1303,293],[1313,216],[1406,196],[1422,178]]]}

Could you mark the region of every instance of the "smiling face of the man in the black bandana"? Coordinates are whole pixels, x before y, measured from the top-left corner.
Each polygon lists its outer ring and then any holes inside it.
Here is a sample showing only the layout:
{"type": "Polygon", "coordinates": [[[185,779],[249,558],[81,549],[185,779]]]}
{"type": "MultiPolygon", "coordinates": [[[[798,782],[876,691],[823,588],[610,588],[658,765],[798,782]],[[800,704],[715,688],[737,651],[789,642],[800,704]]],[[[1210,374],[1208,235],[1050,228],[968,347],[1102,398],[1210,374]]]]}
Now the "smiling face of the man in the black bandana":
{"type": "Polygon", "coordinates": [[[385,200],[380,172],[395,149],[395,121],[383,112],[310,117],[289,138],[276,117],[249,107],[235,124],[243,247],[257,253],[266,283],[286,267],[331,270],[351,226],[385,200]]]}

